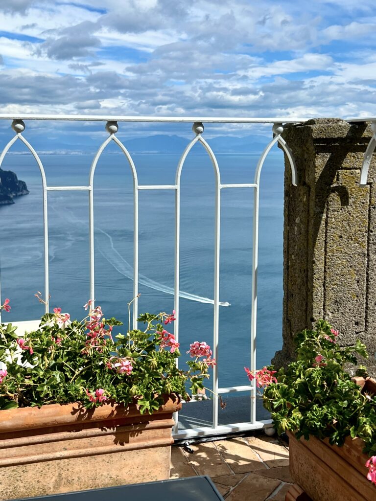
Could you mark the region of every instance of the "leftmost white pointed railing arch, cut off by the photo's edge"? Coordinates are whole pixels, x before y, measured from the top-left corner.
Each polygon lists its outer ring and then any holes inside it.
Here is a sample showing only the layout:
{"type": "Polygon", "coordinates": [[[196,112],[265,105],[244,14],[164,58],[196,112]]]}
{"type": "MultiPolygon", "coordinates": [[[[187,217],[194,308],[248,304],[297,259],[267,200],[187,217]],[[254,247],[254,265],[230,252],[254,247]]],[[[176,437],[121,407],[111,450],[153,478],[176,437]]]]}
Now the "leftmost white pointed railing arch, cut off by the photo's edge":
{"type": "MultiPolygon", "coordinates": [[[[48,260],[48,209],[47,209],[47,179],[45,169],[43,167],[42,160],[39,158],[38,153],[35,151],[33,146],[29,143],[27,139],[24,138],[22,132],[25,130],[25,123],[22,120],[13,120],[12,129],[16,132],[16,136],[13,137],[9,141],[9,143],[4,148],[2,154],[0,155],[0,167],[3,164],[4,158],[8,153],[9,149],[12,145],[19,139],[21,142],[25,144],[30,153],[33,155],[37,165],[39,167],[39,171],[42,177],[42,189],[43,189],[43,236],[44,236],[44,258],[45,258],[45,313],[49,311],[49,260],[48,260]]],[[[0,290],[1,293],[1,290],[0,290]]],[[[0,296],[1,302],[1,296],[0,296]]],[[[1,321],[1,312],[0,312],[0,321],[1,321]]]]}

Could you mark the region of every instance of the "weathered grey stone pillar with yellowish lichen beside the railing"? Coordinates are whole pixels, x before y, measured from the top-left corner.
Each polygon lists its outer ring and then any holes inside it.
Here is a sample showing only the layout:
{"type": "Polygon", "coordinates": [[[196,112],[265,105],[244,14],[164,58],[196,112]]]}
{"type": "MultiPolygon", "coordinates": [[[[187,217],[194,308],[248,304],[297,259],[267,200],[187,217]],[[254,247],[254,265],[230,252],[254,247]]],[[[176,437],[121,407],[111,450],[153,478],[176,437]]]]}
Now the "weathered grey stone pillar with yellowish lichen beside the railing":
{"type": "Polygon", "coordinates": [[[342,345],[356,338],[367,345],[375,376],[376,158],[367,186],[358,186],[372,132],[365,123],[314,119],[286,126],[282,136],[298,186],[285,159],[283,349],[273,363],[291,360],[294,333],[324,318],[342,345]]]}

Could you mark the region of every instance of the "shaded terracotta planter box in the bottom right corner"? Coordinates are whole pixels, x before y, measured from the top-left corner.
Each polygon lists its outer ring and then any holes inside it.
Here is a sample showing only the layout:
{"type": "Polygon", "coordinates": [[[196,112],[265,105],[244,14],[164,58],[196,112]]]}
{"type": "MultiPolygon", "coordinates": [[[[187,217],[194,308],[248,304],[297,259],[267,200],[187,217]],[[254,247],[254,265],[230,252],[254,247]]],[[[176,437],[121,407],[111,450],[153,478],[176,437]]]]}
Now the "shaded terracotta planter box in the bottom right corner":
{"type": "MultiPolygon", "coordinates": [[[[376,393],[376,381],[356,378],[361,388],[376,393]]],[[[342,447],[330,445],[329,440],[303,437],[297,440],[288,432],[290,473],[301,487],[292,487],[286,501],[307,499],[313,501],[375,501],[376,486],[366,478],[368,459],[362,453],[364,442],[347,437],[342,447]],[[306,494],[302,494],[304,491],[306,494]]]]}

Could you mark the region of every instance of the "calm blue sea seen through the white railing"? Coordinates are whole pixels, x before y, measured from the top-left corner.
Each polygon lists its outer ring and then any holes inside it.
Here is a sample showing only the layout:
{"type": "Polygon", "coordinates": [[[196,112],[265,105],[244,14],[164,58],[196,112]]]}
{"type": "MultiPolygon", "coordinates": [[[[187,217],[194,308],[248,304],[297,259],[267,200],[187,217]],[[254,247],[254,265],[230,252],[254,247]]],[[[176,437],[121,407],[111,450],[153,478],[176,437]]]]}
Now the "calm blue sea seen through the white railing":
{"type": "MultiPolygon", "coordinates": [[[[111,151],[111,150],[110,150],[111,151]]],[[[214,172],[199,148],[187,159],[181,179],[180,289],[213,298],[214,172]]],[[[92,155],[45,155],[48,185],[87,185],[92,155]]],[[[140,184],[173,184],[178,155],[135,154],[140,184]]],[[[258,155],[218,155],[223,183],[253,182],[258,155]]],[[[8,155],[4,169],[27,182],[30,194],[0,207],[2,297],[6,320],[43,314],[34,297],[43,291],[41,177],[29,155],[8,155]],[[6,315],[6,314],[5,314],[6,315]]],[[[272,153],[260,195],[257,361],[270,363],[282,345],[283,157],[272,153]]],[[[130,169],[120,154],[105,154],[95,174],[95,267],[97,304],[127,325],[132,299],[133,191],[130,169]]],[[[82,318],[89,299],[87,192],[49,193],[51,307],[82,318]]],[[[252,189],[222,190],[220,299],[220,386],[247,384],[252,282],[252,189]]],[[[174,193],[139,194],[139,312],[171,311],[174,272],[174,193]],[[148,287],[149,286],[149,287],[148,287]]],[[[180,300],[180,343],[213,340],[213,306],[180,300]]]]}

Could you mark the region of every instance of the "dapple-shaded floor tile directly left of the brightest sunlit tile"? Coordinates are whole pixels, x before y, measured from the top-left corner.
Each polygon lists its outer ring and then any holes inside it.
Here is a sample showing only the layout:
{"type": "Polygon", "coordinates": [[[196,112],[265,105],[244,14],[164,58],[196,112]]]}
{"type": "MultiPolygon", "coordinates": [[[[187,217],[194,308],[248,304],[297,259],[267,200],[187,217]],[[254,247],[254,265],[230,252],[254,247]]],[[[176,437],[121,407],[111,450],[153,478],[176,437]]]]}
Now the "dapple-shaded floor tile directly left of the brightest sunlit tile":
{"type": "Polygon", "coordinates": [[[229,475],[231,470],[218,452],[214,442],[191,445],[195,451],[189,455],[191,463],[199,475],[209,475],[211,478],[229,475]]]}

